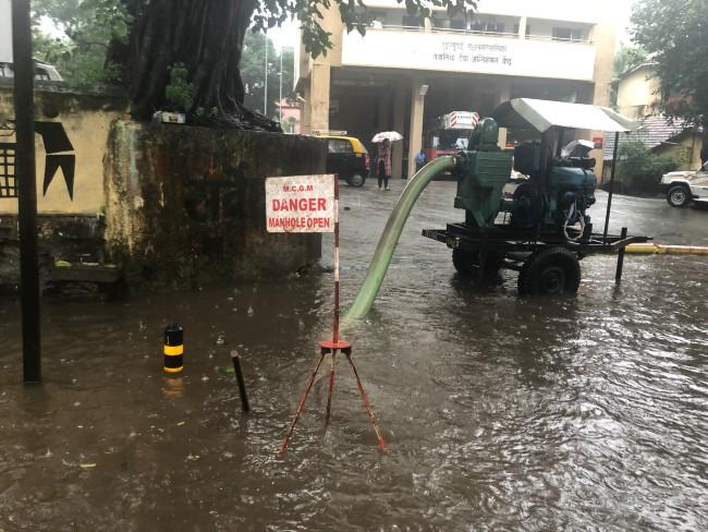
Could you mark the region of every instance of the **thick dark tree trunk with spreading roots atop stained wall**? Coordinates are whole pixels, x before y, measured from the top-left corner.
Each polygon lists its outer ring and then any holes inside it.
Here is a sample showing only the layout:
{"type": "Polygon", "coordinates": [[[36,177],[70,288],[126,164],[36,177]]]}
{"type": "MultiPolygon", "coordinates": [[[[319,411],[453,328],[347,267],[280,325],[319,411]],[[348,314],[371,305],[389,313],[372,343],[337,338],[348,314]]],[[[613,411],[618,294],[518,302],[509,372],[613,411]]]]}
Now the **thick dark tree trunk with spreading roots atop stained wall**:
{"type": "Polygon", "coordinates": [[[170,68],[183,63],[194,87],[188,114],[206,114],[222,125],[279,130],[243,107],[239,64],[256,1],[125,0],[134,23],[119,61],[133,116],[146,120],[164,108],[170,68]]]}

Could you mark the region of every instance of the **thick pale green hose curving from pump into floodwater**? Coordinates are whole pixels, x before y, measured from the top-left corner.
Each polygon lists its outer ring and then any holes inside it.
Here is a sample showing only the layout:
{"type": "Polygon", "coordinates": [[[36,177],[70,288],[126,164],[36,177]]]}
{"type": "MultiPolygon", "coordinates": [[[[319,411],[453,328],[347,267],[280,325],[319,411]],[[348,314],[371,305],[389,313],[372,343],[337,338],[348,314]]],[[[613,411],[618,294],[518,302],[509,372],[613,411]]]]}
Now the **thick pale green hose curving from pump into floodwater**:
{"type": "Polygon", "coordinates": [[[401,237],[403,227],[411,215],[415,202],[432,178],[440,172],[452,170],[454,167],[455,158],[453,156],[438,157],[413,176],[403,190],[391,216],[389,216],[389,221],[386,223],[386,228],[376,246],[376,252],[374,253],[374,258],[371,258],[371,264],[369,264],[369,269],[366,271],[364,282],[356,298],[354,298],[352,306],[346,311],[346,315],[344,316],[345,324],[352,319],[363,318],[371,310],[374,300],[376,300],[379,293],[386,273],[391,264],[395,246],[399,244],[399,238],[401,237]]]}

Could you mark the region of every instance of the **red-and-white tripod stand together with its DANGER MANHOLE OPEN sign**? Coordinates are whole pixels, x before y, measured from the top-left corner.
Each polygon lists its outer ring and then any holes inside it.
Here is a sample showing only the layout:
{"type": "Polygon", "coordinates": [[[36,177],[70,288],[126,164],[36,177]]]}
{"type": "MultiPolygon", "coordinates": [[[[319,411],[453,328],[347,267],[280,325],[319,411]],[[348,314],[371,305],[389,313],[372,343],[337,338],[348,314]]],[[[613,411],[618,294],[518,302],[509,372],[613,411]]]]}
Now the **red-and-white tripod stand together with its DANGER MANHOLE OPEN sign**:
{"type": "Polygon", "coordinates": [[[340,253],[339,253],[339,178],[337,176],[304,176],[292,178],[269,178],[266,180],[266,227],[268,232],[333,232],[334,233],[334,316],[331,340],[319,342],[320,355],[315,370],[307,379],[305,390],[297,404],[288,433],[280,445],[279,452],[288,450],[297,420],[305,409],[307,396],[313,389],[317,373],[325,356],[331,354],[331,366],[327,388],[327,413],[325,426],[329,424],[334,389],[334,363],[341,351],[349,362],[356,386],[362,395],[364,407],[369,415],[374,432],[381,450],[386,450],[386,442],[376,422],[374,410],[362,386],[356,366],[352,361],[352,343],[340,337],[340,253]]]}

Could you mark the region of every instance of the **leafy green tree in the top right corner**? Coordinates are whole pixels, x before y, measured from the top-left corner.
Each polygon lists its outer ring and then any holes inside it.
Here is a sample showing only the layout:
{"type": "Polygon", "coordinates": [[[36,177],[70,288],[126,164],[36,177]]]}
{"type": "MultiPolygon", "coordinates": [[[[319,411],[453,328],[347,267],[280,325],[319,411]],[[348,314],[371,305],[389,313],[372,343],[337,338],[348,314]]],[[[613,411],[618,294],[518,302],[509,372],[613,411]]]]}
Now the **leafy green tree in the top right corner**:
{"type": "Polygon", "coordinates": [[[708,125],[706,0],[640,0],[632,14],[634,41],[660,80],[663,112],[708,125]]]}

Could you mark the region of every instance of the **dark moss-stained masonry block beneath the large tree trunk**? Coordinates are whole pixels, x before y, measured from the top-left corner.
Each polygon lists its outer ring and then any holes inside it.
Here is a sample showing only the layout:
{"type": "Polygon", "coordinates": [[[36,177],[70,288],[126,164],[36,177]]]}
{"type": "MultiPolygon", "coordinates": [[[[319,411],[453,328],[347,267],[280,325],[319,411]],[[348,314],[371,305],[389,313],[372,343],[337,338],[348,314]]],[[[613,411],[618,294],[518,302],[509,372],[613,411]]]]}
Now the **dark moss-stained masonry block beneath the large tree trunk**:
{"type": "Polygon", "coordinates": [[[117,121],[106,159],[106,239],[129,278],[158,286],[297,271],[319,234],[266,231],[265,178],[324,173],[324,141],[117,121]]]}

